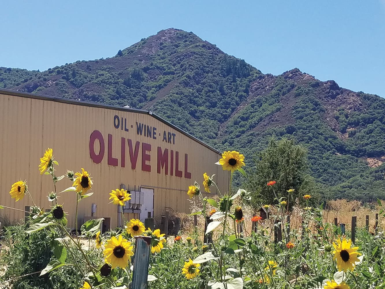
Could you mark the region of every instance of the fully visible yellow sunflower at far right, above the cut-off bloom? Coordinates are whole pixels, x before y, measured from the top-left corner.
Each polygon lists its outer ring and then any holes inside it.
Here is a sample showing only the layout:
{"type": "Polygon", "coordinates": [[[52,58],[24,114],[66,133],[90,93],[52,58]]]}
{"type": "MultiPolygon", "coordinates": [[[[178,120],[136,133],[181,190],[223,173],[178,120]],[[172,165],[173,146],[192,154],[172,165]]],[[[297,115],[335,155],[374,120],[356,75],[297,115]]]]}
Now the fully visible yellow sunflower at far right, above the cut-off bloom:
{"type": "Polygon", "coordinates": [[[359,252],[357,252],[358,247],[350,248],[351,245],[352,240],[346,241],[345,238],[342,239],[342,242],[340,239],[337,239],[336,242],[333,242],[333,259],[337,260],[338,271],[353,271],[355,262],[360,261],[357,258],[358,255],[361,255],[359,252]]]}

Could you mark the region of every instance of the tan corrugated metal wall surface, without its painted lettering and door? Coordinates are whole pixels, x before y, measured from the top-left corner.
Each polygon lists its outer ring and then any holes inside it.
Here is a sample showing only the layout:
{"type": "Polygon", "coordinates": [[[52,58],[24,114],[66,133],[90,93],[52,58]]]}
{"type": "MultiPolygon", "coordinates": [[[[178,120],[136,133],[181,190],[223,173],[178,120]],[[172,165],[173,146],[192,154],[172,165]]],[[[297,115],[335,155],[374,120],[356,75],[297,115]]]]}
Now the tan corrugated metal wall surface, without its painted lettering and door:
{"type": "MultiPolygon", "coordinates": [[[[94,195],[85,198],[79,205],[79,222],[84,216],[90,216],[91,204],[97,205],[96,216],[111,217],[111,226],[117,225],[117,207],[109,204],[109,193],[112,189],[119,188],[124,183],[130,189],[134,185],[154,188],[154,215],[159,216],[166,207],[175,212],[189,212],[187,196],[188,185],[198,181],[202,189],[203,173],[216,174],[215,181],[224,191],[228,188],[229,174],[214,163],[220,155],[199,143],[198,141],[182,134],[166,123],[149,114],[115,109],[97,108],[78,104],[62,103],[52,100],[34,99],[26,96],[13,96],[0,94],[0,204],[23,209],[31,205],[26,196],[22,201],[15,202],[10,198],[9,191],[12,183],[17,180],[27,180],[27,185],[32,193],[35,203],[44,208],[50,208],[47,199],[49,192],[53,191],[52,180],[49,175],[40,175],[38,166],[40,157],[48,147],[53,148],[55,160],[59,162],[56,175],[64,175],[66,170],[80,171],[84,168],[89,171],[94,185],[94,195]],[[119,120],[126,119],[126,127],[114,127],[114,116],[119,120]],[[156,138],[138,135],[136,122],[156,127],[156,138]],[[132,125],[132,127],[131,127],[132,125]],[[100,163],[94,163],[90,158],[89,142],[93,131],[100,131],[105,144],[104,158],[100,163]],[[175,134],[175,144],[162,141],[163,132],[175,134]],[[107,164],[108,159],[108,134],[112,135],[112,156],[118,159],[118,166],[107,164]],[[121,138],[126,138],[125,167],[121,167],[121,138]],[[127,139],[132,140],[135,148],[136,141],[140,142],[139,155],[136,169],[132,170],[127,139]],[[151,144],[151,172],[142,171],[142,143],[151,144]],[[174,151],[173,175],[157,173],[157,148],[174,151]],[[179,152],[179,170],[183,176],[175,176],[175,152],[179,152]],[[188,154],[188,171],[191,179],[184,177],[184,155],[188,154]],[[166,189],[164,189],[166,188],[166,189]]],[[[115,120],[117,124],[117,120],[115,120]]],[[[168,137],[168,136],[167,136],[168,137]]],[[[95,152],[99,152],[99,142],[95,142],[95,152]]],[[[170,170],[169,155],[169,170],[170,170]]],[[[64,178],[57,183],[60,192],[72,183],[64,178]]],[[[216,190],[212,188],[215,193],[216,190]]],[[[69,214],[69,226],[74,227],[75,195],[74,192],[59,195],[59,203],[64,204],[64,210],[69,214]]],[[[23,218],[22,212],[2,210],[11,220],[23,218]]]]}

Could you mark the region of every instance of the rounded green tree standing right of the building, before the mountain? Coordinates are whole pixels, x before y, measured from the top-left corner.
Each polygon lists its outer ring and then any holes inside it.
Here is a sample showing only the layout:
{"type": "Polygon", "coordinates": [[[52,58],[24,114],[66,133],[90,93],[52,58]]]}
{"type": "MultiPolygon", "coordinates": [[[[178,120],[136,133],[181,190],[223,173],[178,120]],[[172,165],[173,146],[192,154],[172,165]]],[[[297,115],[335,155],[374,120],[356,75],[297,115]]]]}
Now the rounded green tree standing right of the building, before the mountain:
{"type": "Polygon", "coordinates": [[[310,194],[312,202],[319,196],[316,183],[308,174],[307,150],[296,145],[291,139],[270,139],[266,149],[261,151],[256,158],[256,168],[249,175],[245,188],[251,192],[251,203],[258,208],[261,203],[277,204],[278,198],[286,197],[289,208],[302,196],[310,194]],[[268,181],[276,181],[275,185],[267,186],[268,181]],[[294,189],[290,194],[287,192],[294,189]]]}

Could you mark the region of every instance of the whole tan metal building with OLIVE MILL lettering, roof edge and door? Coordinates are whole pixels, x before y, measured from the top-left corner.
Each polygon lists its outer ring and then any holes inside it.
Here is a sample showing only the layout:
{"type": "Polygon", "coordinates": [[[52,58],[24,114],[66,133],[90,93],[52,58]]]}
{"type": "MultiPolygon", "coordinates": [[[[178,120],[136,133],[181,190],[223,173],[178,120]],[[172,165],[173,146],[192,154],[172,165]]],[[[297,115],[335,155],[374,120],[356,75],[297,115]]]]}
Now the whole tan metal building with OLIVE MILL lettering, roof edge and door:
{"type": "MultiPolygon", "coordinates": [[[[111,190],[125,187],[132,194],[125,217],[160,216],[165,210],[189,212],[187,188],[194,180],[203,185],[203,173],[216,174],[223,192],[229,173],[215,165],[220,153],[151,111],[105,106],[58,97],[0,90],[0,204],[23,210],[28,196],[15,202],[9,195],[15,181],[27,180],[35,203],[49,209],[47,195],[54,190],[51,177],[38,166],[45,149],[52,148],[56,175],[84,168],[90,173],[94,194],[79,203],[79,226],[104,217],[104,230],[121,225],[119,208],[109,203],[111,190]]],[[[64,178],[57,192],[71,187],[64,178]]],[[[211,187],[211,194],[216,189],[211,187]]],[[[59,203],[74,228],[75,193],[59,194],[59,203]]],[[[10,220],[23,212],[1,210],[10,220]]]]}

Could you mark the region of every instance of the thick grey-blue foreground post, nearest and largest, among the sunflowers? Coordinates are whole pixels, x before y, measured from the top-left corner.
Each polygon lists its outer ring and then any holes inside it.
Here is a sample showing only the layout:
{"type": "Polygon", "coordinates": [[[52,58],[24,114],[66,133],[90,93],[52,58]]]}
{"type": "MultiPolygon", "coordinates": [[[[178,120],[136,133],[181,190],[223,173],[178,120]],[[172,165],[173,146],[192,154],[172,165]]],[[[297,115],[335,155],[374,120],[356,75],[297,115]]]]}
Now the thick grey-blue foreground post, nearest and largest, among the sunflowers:
{"type": "Polygon", "coordinates": [[[134,269],[132,289],[147,289],[148,266],[151,253],[151,237],[135,237],[134,269]]]}

